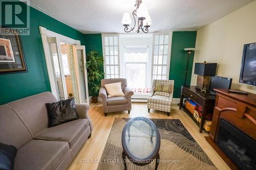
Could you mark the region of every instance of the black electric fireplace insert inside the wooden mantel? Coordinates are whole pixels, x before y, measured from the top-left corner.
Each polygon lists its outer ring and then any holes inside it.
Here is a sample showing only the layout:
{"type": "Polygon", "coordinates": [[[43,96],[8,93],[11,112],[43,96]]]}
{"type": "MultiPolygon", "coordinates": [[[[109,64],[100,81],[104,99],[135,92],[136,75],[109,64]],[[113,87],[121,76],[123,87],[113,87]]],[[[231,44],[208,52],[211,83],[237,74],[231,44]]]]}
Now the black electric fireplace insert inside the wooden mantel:
{"type": "Polygon", "coordinates": [[[216,143],[239,169],[256,169],[256,141],[222,118],[216,143]]]}

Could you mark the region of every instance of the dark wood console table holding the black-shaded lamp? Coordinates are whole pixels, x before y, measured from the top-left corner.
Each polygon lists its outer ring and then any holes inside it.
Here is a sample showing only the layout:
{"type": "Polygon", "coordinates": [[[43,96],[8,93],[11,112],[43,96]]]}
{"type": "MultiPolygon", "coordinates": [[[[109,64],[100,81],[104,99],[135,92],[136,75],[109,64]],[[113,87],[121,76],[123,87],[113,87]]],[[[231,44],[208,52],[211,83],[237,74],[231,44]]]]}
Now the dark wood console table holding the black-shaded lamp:
{"type": "Polygon", "coordinates": [[[214,111],[216,96],[209,92],[203,93],[201,90],[197,89],[196,86],[181,86],[180,110],[183,108],[183,110],[193,119],[193,115],[183,106],[184,96],[193,100],[203,108],[201,123],[197,123],[199,126],[199,132],[202,133],[205,115],[214,111]]]}

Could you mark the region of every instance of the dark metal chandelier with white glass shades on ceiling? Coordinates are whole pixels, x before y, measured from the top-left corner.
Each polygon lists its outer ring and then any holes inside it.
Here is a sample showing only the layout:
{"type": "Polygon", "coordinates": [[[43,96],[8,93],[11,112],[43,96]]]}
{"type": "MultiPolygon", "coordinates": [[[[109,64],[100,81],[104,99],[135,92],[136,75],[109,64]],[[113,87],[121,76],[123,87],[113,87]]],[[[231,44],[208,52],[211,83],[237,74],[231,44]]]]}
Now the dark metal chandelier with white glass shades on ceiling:
{"type": "Polygon", "coordinates": [[[122,24],[124,26],[124,31],[126,33],[129,33],[131,31],[135,31],[137,33],[144,32],[148,33],[148,28],[150,27],[152,21],[151,17],[148,14],[148,10],[146,8],[146,5],[142,3],[141,0],[137,0],[135,6],[135,10],[133,11],[133,18],[134,18],[134,26],[131,28],[128,28],[130,24],[132,23],[131,17],[129,13],[124,13],[122,18],[122,24]],[[136,18],[137,18],[137,30],[135,30],[136,26],[136,18]]]}

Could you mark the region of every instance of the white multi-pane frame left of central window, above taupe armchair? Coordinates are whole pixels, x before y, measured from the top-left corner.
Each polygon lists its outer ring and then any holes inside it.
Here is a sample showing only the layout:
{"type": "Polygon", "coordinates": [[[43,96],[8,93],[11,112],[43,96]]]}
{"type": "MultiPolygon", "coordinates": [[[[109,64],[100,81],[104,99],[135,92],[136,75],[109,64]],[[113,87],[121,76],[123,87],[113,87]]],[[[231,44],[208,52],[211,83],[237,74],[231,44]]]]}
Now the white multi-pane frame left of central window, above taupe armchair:
{"type": "MultiPolygon", "coordinates": [[[[103,52],[103,58],[104,58],[104,76],[105,78],[107,78],[107,74],[106,74],[106,66],[114,66],[114,74],[111,74],[111,69],[110,69],[110,77],[109,78],[113,78],[111,77],[111,75],[114,75],[114,78],[120,78],[120,51],[119,51],[119,34],[101,34],[101,40],[102,40],[102,52],[103,52]],[[114,50],[114,37],[117,37],[117,58],[118,58],[118,64],[115,64],[115,51],[114,51],[114,64],[106,64],[105,62],[105,58],[106,58],[106,55],[105,55],[105,37],[113,37],[113,50],[114,50]],[[116,74],[115,72],[115,66],[118,66],[118,74],[116,74]],[[116,77],[117,75],[117,77],[116,77]]],[[[110,40],[109,40],[109,45],[107,46],[112,46],[110,45],[110,40]]],[[[110,53],[110,48],[109,48],[109,53],[110,53]]],[[[111,55],[108,55],[108,56],[111,56],[111,55]]]]}

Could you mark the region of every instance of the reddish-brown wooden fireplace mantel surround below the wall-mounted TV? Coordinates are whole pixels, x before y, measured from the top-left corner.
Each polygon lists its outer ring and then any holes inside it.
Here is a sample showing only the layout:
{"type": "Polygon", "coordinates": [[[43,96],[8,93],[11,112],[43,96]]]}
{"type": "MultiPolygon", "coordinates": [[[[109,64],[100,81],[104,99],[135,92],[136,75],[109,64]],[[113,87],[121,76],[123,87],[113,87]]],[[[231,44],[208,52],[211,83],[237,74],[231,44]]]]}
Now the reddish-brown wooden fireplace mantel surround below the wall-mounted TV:
{"type": "MultiPolygon", "coordinates": [[[[224,89],[215,89],[217,98],[214,114],[212,117],[211,131],[206,140],[216,150],[231,169],[238,169],[217,146],[220,120],[226,120],[230,125],[236,127],[245,135],[256,140],[256,94],[229,93],[224,89]]],[[[256,154],[256,153],[255,153],[256,154]]]]}

